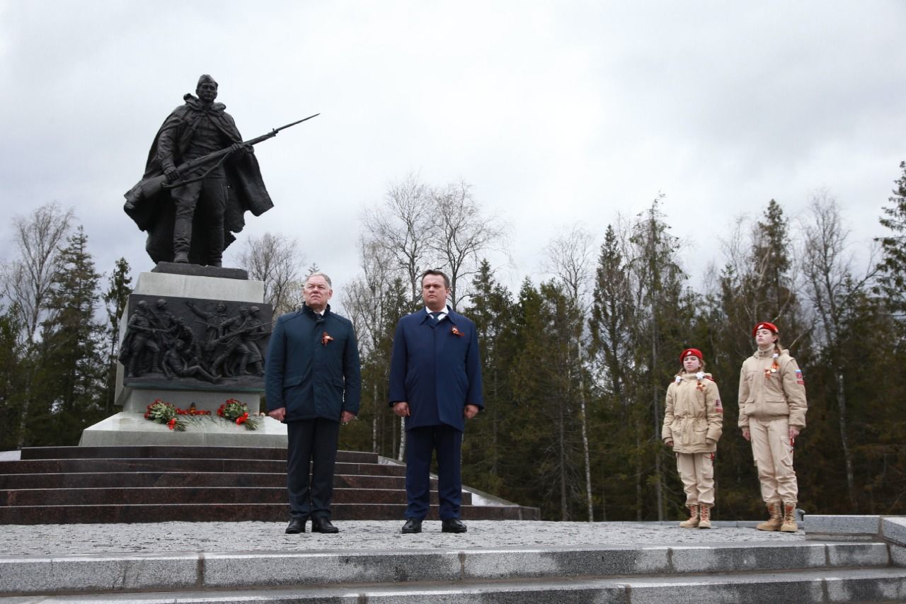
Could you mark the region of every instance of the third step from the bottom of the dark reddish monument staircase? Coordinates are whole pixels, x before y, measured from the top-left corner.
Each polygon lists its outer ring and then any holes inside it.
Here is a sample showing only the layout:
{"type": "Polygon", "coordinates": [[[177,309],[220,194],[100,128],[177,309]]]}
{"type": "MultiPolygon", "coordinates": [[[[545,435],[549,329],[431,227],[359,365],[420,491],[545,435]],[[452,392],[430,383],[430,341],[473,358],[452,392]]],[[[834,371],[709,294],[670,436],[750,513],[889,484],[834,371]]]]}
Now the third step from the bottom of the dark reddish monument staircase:
{"type": "MultiPolygon", "coordinates": [[[[0,489],[91,489],[111,487],[284,487],[284,472],[77,472],[0,474],[0,489]]],[[[405,476],[335,474],[334,488],[405,489],[405,476]]],[[[437,490],[437,479],[431,479],[437,490]]]]}

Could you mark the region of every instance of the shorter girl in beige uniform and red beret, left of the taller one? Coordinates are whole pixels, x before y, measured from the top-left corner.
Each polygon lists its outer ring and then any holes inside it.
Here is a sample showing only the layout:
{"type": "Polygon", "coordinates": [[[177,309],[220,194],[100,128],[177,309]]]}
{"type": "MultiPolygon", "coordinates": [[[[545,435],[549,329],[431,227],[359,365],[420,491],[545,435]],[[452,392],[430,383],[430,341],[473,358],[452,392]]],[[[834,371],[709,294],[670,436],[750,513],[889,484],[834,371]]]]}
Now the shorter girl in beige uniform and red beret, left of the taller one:
{"type": "Polygon", "coordinates": [[[677,455],[677,471],[686,492],[689,520],[684,529],[710,529],[714,505],[714,452],[723,431],[724,415],[718,385],[704,373],[698,348],[679,355],[682,370],[667,388],[664,427],[660,436],[677,455]]]}

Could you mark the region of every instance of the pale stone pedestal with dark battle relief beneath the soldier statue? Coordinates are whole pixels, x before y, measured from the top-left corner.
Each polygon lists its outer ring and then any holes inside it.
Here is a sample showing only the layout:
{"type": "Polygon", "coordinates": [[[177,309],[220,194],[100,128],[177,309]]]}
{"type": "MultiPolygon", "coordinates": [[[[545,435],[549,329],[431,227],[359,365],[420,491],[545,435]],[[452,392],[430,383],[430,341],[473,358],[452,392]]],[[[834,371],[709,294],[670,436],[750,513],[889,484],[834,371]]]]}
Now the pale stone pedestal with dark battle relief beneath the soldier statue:
{"type": "MultiPolygon", "coordinates": [[[[193,265],[176,265],[160,263],[153,272],[140,273],[135,289],[130,296],[130,302],[123,312],[120,320],[120,346],[124,346],[124,339],[130,331],[130,317],[136,312],[144,312],[149,317],[144,323],[146,329],[153,328],[159,333],[159,338],[169,338],[172,344],[174,338],[169,336],[165,329],[172,319],[176,318],[185,328],[188,328],[198,338],[198,342],[210,342],[212,328],[203,314],[214,313],[214,308],[223,303],[226,310],[219,318],[236,318],[236,321],[223,329],[224,334],[241,332],[242,317],[239,312],[247,312],[250,307],[257,307],[262,322],[269,332],[271,308],[264,304],[265,286],[261,281],[252,281],[246,278],[245,271],[236,268],[211,268],[195,267],[193,265]],[[160,306],[159,303],[164,303],[160,306]],[[144,309],[137,310],[141,304],[144,309]],[[194,311],[188,312],[189,306],[194,305],[201,315],[194,311]],[[237,310],[238,309],[238,310],[237,310]]],[[[134,333],[135,326],[132,327],[134,333]]],[[[235,339],[236,336],[233,336],[235,339]]],[[[225,338],[226,341],[229,341],[225,338]]],[[[159,339],[154,346],[167,348],[165,339],[159,339]]],[[[125,346],[129,348],[129,340],[125,346]]],[[[199,344],[199,346],[201,346],[199,344]]],[[[255,341],[261,359],[264,358],[265,342],[255,341]]],[[[251,346],[251,344],[248,344],[251,346]]],[[[199,348],[200,349],[200,348],[199,348]]],[[[159,365],[164,364],[160,356],[164,350],[157,353],[159,365]]],[[[122,363],[117,366],[116,404],[121,405],[123,412],[113,415],[98,424],[92,425],[82,433],[82,445],[113,445],[113,444],[218,444],[236,446],[285,446],[285,426],[277,422],[264,432],[249,431],[242,426],[230,426],[226,422],[205,421],[199,424],[189,424],[186,432],[175,433],[166,425],[154,424],[143,418],[149,404],[160,399],[173,404],[181,409],[188,409],[195,404],[199,410],[207,410],[212,414],[217,413],[217,408],[227,399],[236,399],[248,405],[250,414],[257,414],[260,407],[261,395],[264,393],[264,377],[257,375],[263,369],[263,362],[255,366],[255,372],[250,375],[230,374],[226,363],[223,365],[222,374],[215,375],[216,379],[209,379],[209,374],[215,372],[211,369],[211,361],[226,352],[226,344],[217,344],[217,348],[209,349],[204,363],[199,364],[205,371],[192,375],[178,375],[172,369],[162,373],[153,363],[148,362],[152,356],[149,351],[138,353],[141,355],[141,364],[144,369],[133,371],[128,375],[127,367],[122,363]],[[204,375],[204,376],[203,376],[204,375]],[[223,429],[217,425],[223,424],[223,429]],[[235,428],[235,429],[234,429],[235,428]],[[162,432],[161,432],[162,430],[162,432]],[[273,437],[282,438],[282,444],[271,443],[273,437]],[[252,444],[257,441],[257,443],[252,444]]],[[[236,371],[236,367],[232,368],[236,371]]]]}

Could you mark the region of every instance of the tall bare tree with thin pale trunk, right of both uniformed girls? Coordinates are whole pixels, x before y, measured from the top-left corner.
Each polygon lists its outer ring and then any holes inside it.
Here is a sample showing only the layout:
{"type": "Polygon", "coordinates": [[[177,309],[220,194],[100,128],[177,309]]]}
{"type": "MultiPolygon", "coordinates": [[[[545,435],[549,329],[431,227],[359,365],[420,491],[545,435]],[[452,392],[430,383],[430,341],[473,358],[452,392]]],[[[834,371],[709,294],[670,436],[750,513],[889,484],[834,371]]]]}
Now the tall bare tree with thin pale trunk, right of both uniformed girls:
{"type": "MultiPolygon", "coordinates": [[[[857,509],[853,479],[853,453],[850,449],[846,427],[846,390],[844,387],[843,346],[841,335],[845,332],[843,321],[853,310],[853,305],[865,284],[874,277],[876,268],[868,269],[859,278],[853,276],[853,258],[847,255],[846,239],[849,230],[843,227],[840,206],[826,192],[814,194],[809,203],[810,221],[805,224],[803,273],[806,296],[812,302],[817,317],[815,336],[824,348],[834,373],[834,390],[840,409],[840,444],[846,471],[846,486],[850,505],[857,509]]],[[[872,258],[870,267],[876,264],[872,258]]]]}

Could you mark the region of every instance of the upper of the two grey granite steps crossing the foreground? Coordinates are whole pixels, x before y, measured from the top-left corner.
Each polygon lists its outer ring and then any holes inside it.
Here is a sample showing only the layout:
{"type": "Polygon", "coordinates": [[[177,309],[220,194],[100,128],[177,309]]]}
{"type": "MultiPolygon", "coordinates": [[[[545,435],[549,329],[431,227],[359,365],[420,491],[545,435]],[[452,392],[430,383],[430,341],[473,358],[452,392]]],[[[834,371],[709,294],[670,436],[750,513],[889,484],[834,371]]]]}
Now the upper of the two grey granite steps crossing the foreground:
{"type": "Polygon", "coordinates": [[[883,543],[818,542],[5,557],[0,595],[631,578],[890,564],[883,543]]]}

